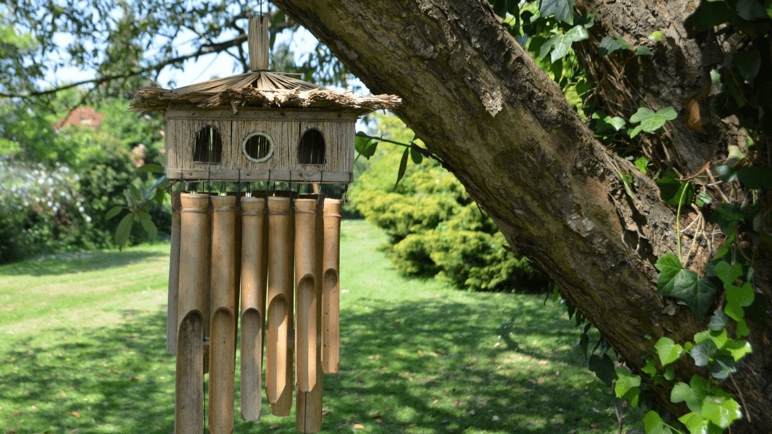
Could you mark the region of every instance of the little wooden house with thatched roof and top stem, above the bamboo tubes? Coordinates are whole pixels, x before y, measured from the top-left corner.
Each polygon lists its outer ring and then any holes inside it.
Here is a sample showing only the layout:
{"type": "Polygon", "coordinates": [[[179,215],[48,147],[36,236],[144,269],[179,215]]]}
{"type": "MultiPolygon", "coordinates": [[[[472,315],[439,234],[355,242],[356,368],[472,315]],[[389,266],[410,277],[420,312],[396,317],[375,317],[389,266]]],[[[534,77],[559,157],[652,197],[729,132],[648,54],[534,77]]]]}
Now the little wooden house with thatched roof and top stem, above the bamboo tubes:
{"type": "Polygon", "coordinates": [[[268,70],[268,26],[250,20],[251,72],[137,90],[131,110],[166,116],[170,180],[349,183],[357,117],[391,95],[357,96],[268,70]]]}

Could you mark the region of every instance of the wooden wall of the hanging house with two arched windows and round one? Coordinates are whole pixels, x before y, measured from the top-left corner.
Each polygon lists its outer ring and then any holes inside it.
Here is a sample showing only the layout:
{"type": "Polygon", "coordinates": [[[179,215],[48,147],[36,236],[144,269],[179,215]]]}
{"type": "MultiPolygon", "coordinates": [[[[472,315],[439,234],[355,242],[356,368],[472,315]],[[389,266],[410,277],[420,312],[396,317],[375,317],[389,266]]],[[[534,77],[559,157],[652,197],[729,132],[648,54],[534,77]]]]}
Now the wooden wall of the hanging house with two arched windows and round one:
{"type": "Polygon", "coordinates": [[[169,107],[166,119],[170,179],[351,181],[356,114],[250,107],[233,114],[226,109],[169,107]],[[257,137],[245,150],[250,136],[257,137]],[[269,140],[273,148],[267,151],[269,140]],[[202,144],[208,148],[197,150],[202,144]]]}

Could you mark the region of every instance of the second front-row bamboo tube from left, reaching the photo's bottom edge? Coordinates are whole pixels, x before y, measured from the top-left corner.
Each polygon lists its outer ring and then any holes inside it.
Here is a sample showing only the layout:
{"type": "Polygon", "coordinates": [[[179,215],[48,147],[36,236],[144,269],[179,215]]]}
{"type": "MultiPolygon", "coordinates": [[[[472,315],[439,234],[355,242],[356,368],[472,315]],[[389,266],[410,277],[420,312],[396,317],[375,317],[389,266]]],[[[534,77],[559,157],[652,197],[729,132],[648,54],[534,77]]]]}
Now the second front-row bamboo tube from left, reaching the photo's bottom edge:
{"type": "Polygon", "coordinates": [[[209,321],[209,432],[233,432],[235,375],[236,198],[212,197],[212,280],[209,321]]]}

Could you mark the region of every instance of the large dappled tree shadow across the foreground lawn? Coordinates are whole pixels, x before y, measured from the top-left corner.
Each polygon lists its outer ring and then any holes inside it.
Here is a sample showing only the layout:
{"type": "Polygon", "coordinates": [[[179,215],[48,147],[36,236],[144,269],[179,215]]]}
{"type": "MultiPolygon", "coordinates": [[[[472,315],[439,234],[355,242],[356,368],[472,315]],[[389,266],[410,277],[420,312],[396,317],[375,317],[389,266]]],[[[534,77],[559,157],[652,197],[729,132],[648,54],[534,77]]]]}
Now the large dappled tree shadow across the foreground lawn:
{"type": "MultiPolygon", "coordinates": [[[[567,321],[525,306],[502,317],[488,297],[371,303],[367,313],[343,313],[340,373],[324,376],[324,432],[355,424],[357,432],[545,433],[615,425],[597,410],[608,409],[602,388],[565,373],[586,372],[581,356],[533,345],[566,341],[567,321]],[[502,333],[512,344],[496,345],[502,333]]],[[[0,360],[0,428],[171,432],[174,357],[164,331],[162,312],[126,311],[119,327],[17,341],[0,360]]],[[[269,429],[295,432],[294,418],[237,421],[235,432],[269,429]]]]}

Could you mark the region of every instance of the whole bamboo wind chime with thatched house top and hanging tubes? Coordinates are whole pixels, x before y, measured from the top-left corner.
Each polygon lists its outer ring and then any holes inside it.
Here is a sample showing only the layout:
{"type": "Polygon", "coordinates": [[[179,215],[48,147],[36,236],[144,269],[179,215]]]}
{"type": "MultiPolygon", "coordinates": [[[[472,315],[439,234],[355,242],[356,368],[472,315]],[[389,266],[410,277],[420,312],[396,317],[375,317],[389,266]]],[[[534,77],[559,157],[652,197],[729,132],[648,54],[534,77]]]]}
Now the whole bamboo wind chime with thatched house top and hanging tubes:
{"type": "Polygon", "coordinates": [[[289,415],[294,395],[297,429],[321,429],[323,373],[338,370],[343,200],[293,186],[349,184],[357,117],[399,102],[271,72],[267,41],[265,18],[252,16],[252,72],[144,87],[132,102],[165,114],[170,180],[237,185],[227,195],[172,195],[167,341],[177,354],[178,434],[204,430],[205,375],[209,432],[232,432],[237,350],[245,420],[260,419],[264,385],[274,415],[289,415]],[[266,188],[240,191],[252,183],[266,188]]]}

